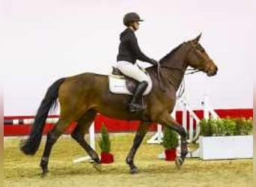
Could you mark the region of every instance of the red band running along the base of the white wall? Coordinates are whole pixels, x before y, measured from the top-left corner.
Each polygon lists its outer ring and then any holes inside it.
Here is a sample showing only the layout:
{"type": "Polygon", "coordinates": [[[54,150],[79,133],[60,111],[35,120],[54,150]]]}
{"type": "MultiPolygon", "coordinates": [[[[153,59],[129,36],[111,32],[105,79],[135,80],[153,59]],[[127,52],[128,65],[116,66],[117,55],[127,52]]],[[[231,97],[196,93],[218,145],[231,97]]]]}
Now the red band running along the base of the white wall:
{"type": "MultiPolygon", "coordinates": [[[[219,117],[253,117],[253,109],[252,108],[243,108],[243,109],[216,109],[215,110],[219,117]]],[[[196,110],[195,114],[201,119],[203,117],[203,111],[196,110]]],[[[56,115],[52,115],[49,117],[58,117],[56,115]]],[[[4,120],[13,120],[13,119],[32,119],[34,116],[8,116],[4,117],[4,120]]],[[[182,111],[176,112],[176,119],[179,123],[182,123],[182,111]]],[[[188,115],[189,119],[189,115],[188,115]]],[[[189,121],[189,120],[187,120],[189,121]]],[[[126,121],[126,120],[115,120],[109,117],[105,117],[103,115],[98,115],[94,120],[95,132],[100,132],[100,126],[105,124],[109,129],[109,132],[134,132],[138,129],[138,121],[126,121]]],[[[49,132],[52,129],[53,124],[47,123],[43,134],[49,132]]],[[[65,134],[70,134],[73,131],[76,123],[70,124],[70,127],[66,130],[65,134]]],[[[7,125],[4,124],[4,136],[16,136],[16,135],[28,135],[30,132],[31,126],[28,124],[22,125],[7,125]]],[[[189,128],[189,124],[188,124],[189,128]]],[[[195,128],[195,127],[194,127],[195,128]]],[[[152,124],[150,126],[150,131],[156,131],[156,124],[152,124]]]]}

